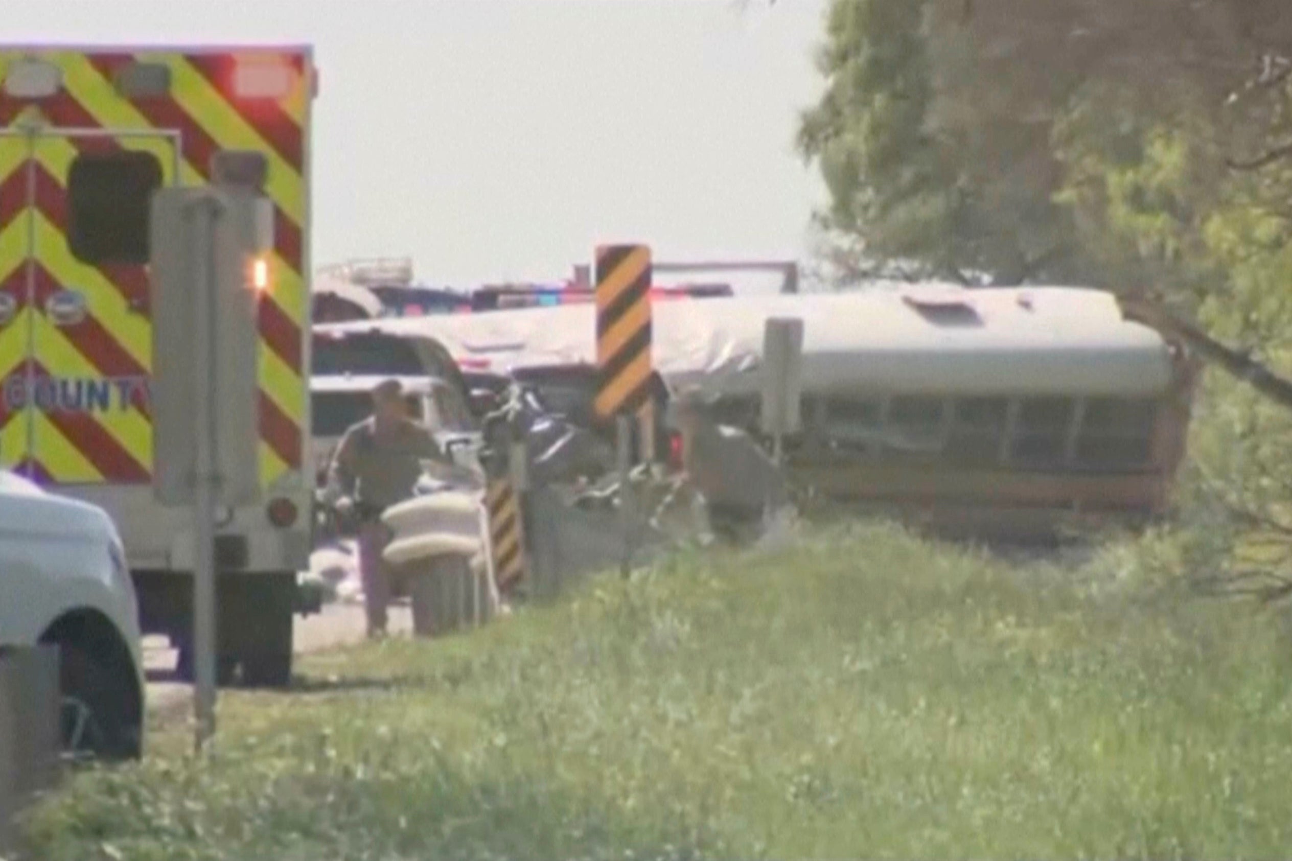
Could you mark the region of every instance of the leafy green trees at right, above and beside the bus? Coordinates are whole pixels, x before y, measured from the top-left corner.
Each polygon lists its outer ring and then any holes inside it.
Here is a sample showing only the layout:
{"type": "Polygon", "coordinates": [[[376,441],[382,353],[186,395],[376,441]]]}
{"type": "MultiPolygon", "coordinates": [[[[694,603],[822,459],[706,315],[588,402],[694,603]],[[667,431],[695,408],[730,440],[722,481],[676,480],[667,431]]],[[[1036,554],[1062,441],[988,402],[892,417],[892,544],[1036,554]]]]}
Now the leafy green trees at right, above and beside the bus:
{"type": "MultiPolygon", "coordinates": [[[[1292,374],[1287,0],[835,0],[818,65],[837,270],[1152,287],[1292,374]]],[[[1292,559],[1289,444],[1208,376],[1183,500],[1235,571],[1253,536],[1292,559]]]]}

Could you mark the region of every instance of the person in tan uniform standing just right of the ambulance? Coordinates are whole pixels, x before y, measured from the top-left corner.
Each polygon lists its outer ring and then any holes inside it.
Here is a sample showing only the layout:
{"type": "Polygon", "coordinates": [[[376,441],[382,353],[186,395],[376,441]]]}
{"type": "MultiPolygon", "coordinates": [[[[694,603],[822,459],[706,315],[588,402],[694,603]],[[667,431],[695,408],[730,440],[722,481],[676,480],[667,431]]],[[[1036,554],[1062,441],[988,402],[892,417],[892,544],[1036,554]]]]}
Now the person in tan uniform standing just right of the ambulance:
{"type": "Polygon", "coordinates": [[[413,496],[421,461],[443,460],[429,430],[407,414],[403,387],[385,380],[372,390],[372,416],[341,438],[328,469],[328,494],[336,510],[359,520],[359,576],[368,636],[386,633],[390,573],[381,558],[390,541],[381,512],[413,496]]]}

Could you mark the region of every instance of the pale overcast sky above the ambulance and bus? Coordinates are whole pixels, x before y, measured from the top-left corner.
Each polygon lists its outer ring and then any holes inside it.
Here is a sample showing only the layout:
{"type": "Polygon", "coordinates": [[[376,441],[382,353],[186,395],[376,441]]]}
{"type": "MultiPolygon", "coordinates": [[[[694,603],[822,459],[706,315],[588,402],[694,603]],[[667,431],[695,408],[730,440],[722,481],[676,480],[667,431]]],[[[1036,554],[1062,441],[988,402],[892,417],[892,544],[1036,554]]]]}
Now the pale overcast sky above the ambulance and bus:
{"type": "Polygon", "coordinates": [[[5,41],[313,43],[314,263],[557,279],[598,241],[802,256],[824,0],[39,0],[5,41]],[[103,14],[110,12],[110,14],[103,14]]]}

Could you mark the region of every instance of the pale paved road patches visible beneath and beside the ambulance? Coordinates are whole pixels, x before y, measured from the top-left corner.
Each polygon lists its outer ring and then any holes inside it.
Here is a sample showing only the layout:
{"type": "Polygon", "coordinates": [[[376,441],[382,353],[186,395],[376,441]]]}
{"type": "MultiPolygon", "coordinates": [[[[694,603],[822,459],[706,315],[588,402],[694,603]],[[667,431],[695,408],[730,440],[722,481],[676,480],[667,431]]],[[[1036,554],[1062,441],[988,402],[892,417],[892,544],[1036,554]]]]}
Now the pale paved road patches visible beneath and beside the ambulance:
{"type": "MultiPolygon", "coordinates": [[[[390,608],[391,633],[412,630],[407,607],[390,608]]],[[[363,639],[363,608],[354,604],[332,604],[309,618],[296,617],[296,653],[320,652],[363,639]]],[[[149,710],[159,715],[182,716],[193,702],[193,688],[174,680],[176,653],[165,638],[145,638],[143,667],[149,675],[149,710]]]]}

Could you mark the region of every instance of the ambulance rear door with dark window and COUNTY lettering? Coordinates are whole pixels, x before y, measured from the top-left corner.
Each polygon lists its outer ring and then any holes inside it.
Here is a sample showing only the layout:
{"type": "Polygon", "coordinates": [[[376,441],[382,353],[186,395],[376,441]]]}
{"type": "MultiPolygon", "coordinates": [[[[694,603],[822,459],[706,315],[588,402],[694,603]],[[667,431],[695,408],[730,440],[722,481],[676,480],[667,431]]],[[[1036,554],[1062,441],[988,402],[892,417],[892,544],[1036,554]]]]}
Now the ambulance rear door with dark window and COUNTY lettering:
{"type": "Polygon", "coordinates": [[[149,208],[178,173],[177,136],[37,123],[0,146],[0,169],[17,157],[22,176],[14,238],[0,234],[3,259],[21,249],[0,356],[22,343],[25,358],[5,386],[25,432],[5,435],[4,460],[49,485],[146,484],[149,208]]]}

